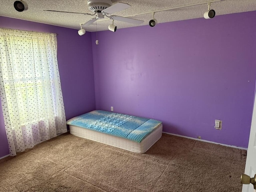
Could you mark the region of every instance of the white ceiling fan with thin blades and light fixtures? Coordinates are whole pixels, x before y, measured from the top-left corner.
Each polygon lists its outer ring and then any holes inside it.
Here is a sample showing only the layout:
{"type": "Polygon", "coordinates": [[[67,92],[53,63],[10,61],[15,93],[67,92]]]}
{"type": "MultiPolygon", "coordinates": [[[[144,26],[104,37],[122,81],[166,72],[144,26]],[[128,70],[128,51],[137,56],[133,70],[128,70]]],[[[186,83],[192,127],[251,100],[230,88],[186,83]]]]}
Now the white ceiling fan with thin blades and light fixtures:
{"type": "MultiPolygon", "coordinates": [[[[81,24],[81,29],[82,29],[82,27],[89,26],[96,20],[103,19],[105,16],[112,20],[112,26],[114,26],[113,25],[114,20],[132,23],[132,24],[142,24],[144,22],[143,20],[126,18],[126,17],[117,16],[117,15],[110,15],[115,12],[122,11],[124,9],[131,7],[130,5],[128,5],[126,3],[117,3],[117,4],[112,5],[112,0],[87,0],[87,4],[89,6],[89,10],[94,12],[94,14],[90,14],[90,13],[77,13],[77,14],[85,14],[85,15],[91,15],[91,16],[95,15],[95,17],[91,18],[84,24],[81,24]]],[[[55,11],[55,10],[44,10],[44,11],[76,13],[76,12],[65,12],[65,11],[55,11]]],[[[113,32],[116,31],[116,26],[114,26],[114,27],[115,28],[113,30],[110,29],[113,32]]]]}

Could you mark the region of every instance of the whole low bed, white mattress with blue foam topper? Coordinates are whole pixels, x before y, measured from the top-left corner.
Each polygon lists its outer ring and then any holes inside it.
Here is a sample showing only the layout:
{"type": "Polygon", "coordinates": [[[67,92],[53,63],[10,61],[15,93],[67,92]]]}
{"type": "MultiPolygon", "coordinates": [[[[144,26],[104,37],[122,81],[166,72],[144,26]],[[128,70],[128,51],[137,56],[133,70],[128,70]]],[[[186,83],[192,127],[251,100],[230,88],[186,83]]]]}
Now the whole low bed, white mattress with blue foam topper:
{"type": "Polygon", "coordinates": [[[67,121],[70,134],[137,153],[146,152],[162,136],[162,122],[94,110],[67,121]]]}

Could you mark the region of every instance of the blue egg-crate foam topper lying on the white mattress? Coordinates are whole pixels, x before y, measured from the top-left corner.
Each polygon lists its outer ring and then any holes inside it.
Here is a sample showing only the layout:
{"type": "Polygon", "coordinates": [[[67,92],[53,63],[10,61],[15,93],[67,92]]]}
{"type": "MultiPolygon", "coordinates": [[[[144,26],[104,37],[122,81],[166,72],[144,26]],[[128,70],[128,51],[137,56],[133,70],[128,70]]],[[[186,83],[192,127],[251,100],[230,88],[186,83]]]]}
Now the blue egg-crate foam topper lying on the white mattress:
{"type": "Polygon", "coordinates": [[[141,142],[162,122],[154,119],[94,110],[67,121],[74,125],[126,139],[141,142]]]}

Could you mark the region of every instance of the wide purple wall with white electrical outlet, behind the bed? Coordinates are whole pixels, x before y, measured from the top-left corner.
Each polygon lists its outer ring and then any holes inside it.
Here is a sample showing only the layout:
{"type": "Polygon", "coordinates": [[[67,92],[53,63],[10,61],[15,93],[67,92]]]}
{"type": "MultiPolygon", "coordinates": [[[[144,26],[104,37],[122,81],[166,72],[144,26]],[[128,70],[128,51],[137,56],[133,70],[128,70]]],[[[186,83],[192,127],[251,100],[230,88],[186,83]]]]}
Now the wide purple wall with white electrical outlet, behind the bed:
{"type": "Polygon", "coordinates": [[[247,148],[254,18],[255,11],[103,31],[98,46],[92,33],[96,109],[114,106],[161,120],[164,132],[247,148]]]}

